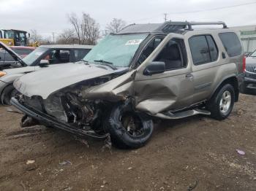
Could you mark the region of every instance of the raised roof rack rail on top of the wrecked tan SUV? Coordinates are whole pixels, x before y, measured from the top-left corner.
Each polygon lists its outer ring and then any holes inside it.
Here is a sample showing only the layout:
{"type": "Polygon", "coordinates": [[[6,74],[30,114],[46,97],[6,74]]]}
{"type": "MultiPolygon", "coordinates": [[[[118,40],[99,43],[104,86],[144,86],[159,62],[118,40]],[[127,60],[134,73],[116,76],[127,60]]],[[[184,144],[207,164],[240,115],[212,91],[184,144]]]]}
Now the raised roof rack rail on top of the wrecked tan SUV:
{"type": "Polygon", "coordinates": [[[188,26],[188,30],[193,30],[192,26],[207,26],[207,25],[222,25],[223,28],[227,28],[227,25],[225,22],[222,21],[218,21],[218,22],[177,22],[177,21],[167,21],[164,23],[164,26],[162,27],[162,29],[164,28],[168,28],[168,26],[184,26],[184,28],[186,28],[186,26],[188,26]]]}

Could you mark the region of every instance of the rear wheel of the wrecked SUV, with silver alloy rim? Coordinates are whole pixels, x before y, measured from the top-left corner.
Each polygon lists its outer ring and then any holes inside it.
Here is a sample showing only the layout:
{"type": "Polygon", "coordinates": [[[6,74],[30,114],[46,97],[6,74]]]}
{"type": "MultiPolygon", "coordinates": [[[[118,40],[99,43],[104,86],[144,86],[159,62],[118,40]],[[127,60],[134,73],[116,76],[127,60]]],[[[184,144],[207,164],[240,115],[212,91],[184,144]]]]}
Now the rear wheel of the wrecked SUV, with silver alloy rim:
{"type": "Polygon", "coordinates": [[[233,85],[223,85],[211,100],[207,109],[211,112],[211,117],[216,120],[225,120],[232,112],[235,103],[235,90],[233,85]]]}

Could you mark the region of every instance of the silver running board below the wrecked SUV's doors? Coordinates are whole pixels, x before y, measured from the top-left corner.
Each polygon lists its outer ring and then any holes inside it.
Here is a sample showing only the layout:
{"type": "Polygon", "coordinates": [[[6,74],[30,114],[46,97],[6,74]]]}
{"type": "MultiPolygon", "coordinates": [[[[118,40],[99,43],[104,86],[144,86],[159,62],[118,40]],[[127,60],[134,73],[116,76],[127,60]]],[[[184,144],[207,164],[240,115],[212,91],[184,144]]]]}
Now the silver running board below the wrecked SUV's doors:
{"type": "Polygon", "coordinates": [[[191,110],[176,112],[176,113],[172,113],[172,112],[166,112],[165,114],[158,113],[155,115],[155,117],[160,117],[162,119],[167,119],[167,120],[178,120],[184,117],[189,117],[197,114],[211,115],[211,112],[203,109],[191,109],[191,110]]]}

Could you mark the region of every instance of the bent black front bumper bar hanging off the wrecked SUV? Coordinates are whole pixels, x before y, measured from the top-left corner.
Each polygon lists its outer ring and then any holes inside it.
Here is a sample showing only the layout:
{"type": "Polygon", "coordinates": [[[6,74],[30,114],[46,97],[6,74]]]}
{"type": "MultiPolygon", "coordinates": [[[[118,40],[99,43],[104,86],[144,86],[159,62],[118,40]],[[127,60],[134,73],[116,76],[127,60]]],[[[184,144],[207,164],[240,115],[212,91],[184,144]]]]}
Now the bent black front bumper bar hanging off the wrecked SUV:
{"type": "Polygon", "coordinates": [[[69,133],[73,133],[77,136],[89,136],[94,139],[105,139],[108,137],[108,134],[99,135],[98,133],[95,133],[94,130],[83,130],[73,127],[72,125],[69,125],[65,122],[61,122],[59,120],[56,120],[56,118],[51,117],[48,114],[45,114],[43,112],[38,111],[37,109],[31,108],[30,106],[24,106],[23,104],[20,104],[20,102],[16,98],[11,99],[11,104],[18,109],[20,109],[21,112],[27,114],[29,117],[34,118],[35,120],[38,120],[40,124],[52,126],[54,128],[59,128],[61,130],[66,130],[69,133]]]}

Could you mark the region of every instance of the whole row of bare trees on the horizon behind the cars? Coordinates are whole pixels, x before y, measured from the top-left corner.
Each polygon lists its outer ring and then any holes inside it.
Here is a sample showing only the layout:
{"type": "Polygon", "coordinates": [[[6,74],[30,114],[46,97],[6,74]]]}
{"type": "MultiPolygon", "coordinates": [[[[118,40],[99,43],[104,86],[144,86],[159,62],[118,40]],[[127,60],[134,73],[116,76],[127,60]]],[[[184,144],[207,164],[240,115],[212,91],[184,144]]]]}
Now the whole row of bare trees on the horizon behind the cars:
{"type": "Polygon", "coordinates": [[[39,44],[97,44],[98,39],[110,33],[116,34],[121,31],[126,22],[124,20],[113,18],[107,24],[104,31],[100,30],[99,23],[89,14],[82,12],[80,16],[75,13],[67,15],[70,24],[69,28],[64,29],[61,34],[43,37],[33,29],[30,31],[31,42],[39,42],[39,44]]]}

